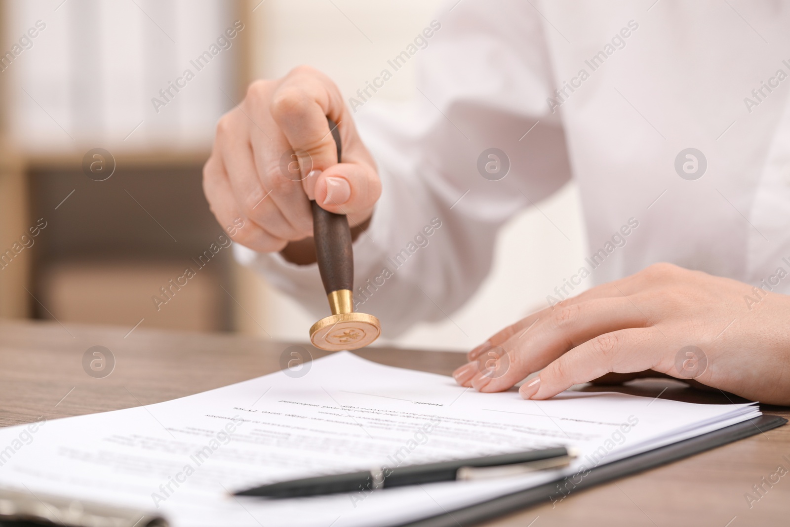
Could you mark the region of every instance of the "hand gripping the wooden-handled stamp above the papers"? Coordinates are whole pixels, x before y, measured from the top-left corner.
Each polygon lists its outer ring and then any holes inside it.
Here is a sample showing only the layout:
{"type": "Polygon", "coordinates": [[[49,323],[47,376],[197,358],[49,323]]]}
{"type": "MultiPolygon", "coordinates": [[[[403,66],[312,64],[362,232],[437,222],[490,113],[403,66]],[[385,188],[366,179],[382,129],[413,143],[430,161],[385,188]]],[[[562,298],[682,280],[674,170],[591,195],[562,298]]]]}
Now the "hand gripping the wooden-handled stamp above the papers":
{"type": "Polygon", "coordinates": [[[211,211],[231,239],[259,252],[313,235],[310,200],[364,224],[381,194],[373,157],[359,139],[340,90],[308,66],[255,81],[223,115],[203,168],[211,211]],[[326,118],[337,122],[343,163],[326,118]],[[242,228],[229,229],[240,223],[242,228]],[[235,231],[235,232],[234,232],[235,231]]]}

